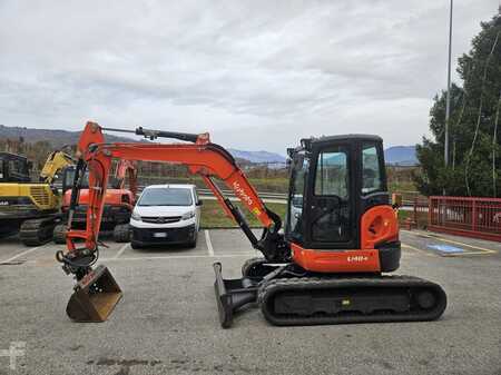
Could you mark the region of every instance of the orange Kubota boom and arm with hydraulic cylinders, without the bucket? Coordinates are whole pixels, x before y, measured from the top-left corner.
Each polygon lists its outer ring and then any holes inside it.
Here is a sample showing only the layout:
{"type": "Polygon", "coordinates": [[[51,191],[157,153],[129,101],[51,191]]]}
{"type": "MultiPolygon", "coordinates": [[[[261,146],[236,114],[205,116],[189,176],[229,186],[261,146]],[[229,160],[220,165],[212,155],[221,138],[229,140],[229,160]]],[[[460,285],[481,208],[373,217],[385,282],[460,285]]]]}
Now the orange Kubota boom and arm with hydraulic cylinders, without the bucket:
{"type": "Polygon", "coordinates": [[[86,274],[85,269],[97,260],[99,227],[112,159],[186,165],[191,174],[202,176],[207,187],[222,204],[225,213],[237,221],[253,246],[262,250],[268,260],[278,261],[288,257],[288,247],[285,245],[283,236],[278,234],[282,226],[281,218],[264,205],[232,155],[223,147],[212,144],[207,134],[188,135],[138,128],[135,131],[136,135],[150,139],[167,137],[194,144],[106,144],[102,130],[117,131],[118,129],[106,129],[96,122],[88,122],[78,144],[79,160],[70,204],[70,229],[67,234],[68,251],[58,255],[58,259],[65,264],[66,272],[81,278],[86,274]],[[79,180],[86,169],[89,172],[87,225],[85,230],[75,230],[71,229],[71,211],[78,201],[79,180]],[[219,178],[232,189],[243,205],[261,221],[264,228],[261,239],[255,237],[238,207],[223,196],[213,177],[219,178]],[[78,248],[76,244],[81,239],[84,239],[85,246],[78,248]]]}

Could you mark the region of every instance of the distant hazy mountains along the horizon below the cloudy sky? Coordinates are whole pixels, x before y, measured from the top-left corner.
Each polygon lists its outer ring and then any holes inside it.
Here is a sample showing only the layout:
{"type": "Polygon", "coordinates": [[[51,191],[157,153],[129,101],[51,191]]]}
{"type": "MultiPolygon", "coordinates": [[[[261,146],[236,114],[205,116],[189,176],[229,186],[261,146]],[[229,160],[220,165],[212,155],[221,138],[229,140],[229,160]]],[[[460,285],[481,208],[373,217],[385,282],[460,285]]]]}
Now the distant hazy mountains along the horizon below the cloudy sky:
{"type": "MultiPolygon", "coordinates": [[[[32,129],[24,127],[9,127],[0,125],[0,139],[19,139],[22,137],[24,141],[36,142],[36,141],[48,141],[53,147],[58,148],[63,145],[73,145],[78,141],[80,131],[67,131],[67,130],[56,130],[56,129],[32,129]]],[[[130,141],[131,138],[118,137],[114,135],[106,135],[106,139],[112,142],[116,141],[130,141]]],[[[249,151],[249,150],[238,150],[229,148],[228,151],[237,159],[245,159],[250,162],[258,164],[285,164],[285,156],[269,152],[265,150],[261,151],[249,151]]],[[[400,166],[415,166],[418,165],[418,159],[415,156],[414,146],[394,146],[390,147],[384,151],[386,164],[400,165],[400,166]]]]}

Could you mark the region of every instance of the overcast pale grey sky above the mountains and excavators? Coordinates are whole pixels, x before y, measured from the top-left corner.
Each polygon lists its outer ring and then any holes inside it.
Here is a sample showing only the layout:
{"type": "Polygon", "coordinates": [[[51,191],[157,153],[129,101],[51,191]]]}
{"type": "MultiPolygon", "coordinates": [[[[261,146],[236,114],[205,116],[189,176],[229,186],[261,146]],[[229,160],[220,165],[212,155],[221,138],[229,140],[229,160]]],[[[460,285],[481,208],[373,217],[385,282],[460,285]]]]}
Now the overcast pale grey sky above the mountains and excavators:
{"type": "MultiPolygon", "coordinates": [[[[453,62],[499,0],[454,2],[453,62]]],[[[428,134],[448,0],[0,0],[0,124],[209,131],[285,154],[301,137],[428,134]]]]}

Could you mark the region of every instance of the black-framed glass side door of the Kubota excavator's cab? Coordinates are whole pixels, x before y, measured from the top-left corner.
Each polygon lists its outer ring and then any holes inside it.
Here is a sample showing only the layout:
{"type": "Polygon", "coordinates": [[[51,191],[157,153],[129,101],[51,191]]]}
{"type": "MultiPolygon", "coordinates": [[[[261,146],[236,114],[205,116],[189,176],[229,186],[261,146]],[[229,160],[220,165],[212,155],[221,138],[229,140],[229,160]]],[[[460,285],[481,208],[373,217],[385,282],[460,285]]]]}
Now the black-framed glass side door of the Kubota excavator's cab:
{"type": "Polygon", "coordinates": [[[308,248],[356,248],[354,148],[354,144],[327,142],[317,145],[312,152],[307,199],[308,248]]]}

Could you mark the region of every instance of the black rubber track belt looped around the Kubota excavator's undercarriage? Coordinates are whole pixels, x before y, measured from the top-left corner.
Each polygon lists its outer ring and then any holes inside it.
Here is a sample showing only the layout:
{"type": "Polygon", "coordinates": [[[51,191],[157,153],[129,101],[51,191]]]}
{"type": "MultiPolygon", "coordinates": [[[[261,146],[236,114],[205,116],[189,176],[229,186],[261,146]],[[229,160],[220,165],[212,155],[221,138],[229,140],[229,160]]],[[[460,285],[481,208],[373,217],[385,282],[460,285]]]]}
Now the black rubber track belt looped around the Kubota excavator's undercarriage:
{"type": "MultiPolygon", "coordinates": [[[[299,295],[299,294],[298,294],[299,295]]],[[[382,276],[382,277],[353,277],[353,278],[318,278],[318,277],[294,277],[294,278],[277,278],[265,284],[257,295],[258,304],[261,305],[265,318],[279,326],[293,325],[320,325],[320,324],[341,324],[341,323],[384,323],[384,322],[421,322],[434,320],[439,318],[446,306],[446,296],[443,289],[432,282],[413,277],[413,276],[382,276]],[[312,289],[343,289],[356,287],[380,287],[389,290],[396,288],[405,288],[411,295],[412,290],[426,288],[432,290],[438,297],[435,306],[428,310],[409,310],[404,313],[376,313],[376,314],[343,314],[334,315],[281,315],[276,316],[269,309],[273,306],[272,298],[281,292],[305,292],[312,289]]]]}

